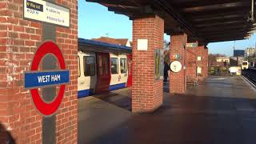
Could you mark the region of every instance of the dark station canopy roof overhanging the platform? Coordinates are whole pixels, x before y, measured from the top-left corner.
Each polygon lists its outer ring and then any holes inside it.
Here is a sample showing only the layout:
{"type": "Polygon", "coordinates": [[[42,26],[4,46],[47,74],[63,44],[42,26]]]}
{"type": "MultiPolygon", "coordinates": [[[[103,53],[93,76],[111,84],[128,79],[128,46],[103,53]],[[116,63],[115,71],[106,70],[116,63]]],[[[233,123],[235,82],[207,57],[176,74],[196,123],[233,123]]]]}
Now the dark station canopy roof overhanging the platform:
{"type": "Polygon", "coordinates": [[[185,32],[188,40],[208,43],[250,38],[256,30],[251,0],[86,0],[130,19],[158,14],[165,33],[185,32]]]}

